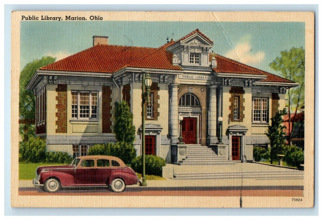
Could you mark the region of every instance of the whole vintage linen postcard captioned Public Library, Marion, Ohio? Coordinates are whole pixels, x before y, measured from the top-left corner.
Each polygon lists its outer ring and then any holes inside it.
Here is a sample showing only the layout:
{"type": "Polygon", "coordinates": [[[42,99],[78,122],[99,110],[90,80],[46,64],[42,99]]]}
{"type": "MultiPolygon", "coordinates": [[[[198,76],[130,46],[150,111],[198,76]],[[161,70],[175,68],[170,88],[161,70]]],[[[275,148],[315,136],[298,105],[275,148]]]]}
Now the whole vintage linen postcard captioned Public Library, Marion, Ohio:
{"type": "Polygon", "coordinates": [[[11,43],[12,207],[313,207],[313,12],[14,11],[11,43]]]}

